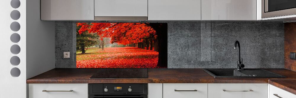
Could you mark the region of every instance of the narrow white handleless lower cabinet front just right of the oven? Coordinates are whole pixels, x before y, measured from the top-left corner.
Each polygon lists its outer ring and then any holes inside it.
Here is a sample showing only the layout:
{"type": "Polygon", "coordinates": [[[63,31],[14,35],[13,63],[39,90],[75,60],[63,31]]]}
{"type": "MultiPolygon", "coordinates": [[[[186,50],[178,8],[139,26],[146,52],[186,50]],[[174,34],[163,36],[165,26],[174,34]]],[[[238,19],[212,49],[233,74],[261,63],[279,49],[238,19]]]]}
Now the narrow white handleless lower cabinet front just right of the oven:
{"type": "Polygon", "coordinates": [[[163,98],[163,84],[148,83],[148,98],[163,98]]]}

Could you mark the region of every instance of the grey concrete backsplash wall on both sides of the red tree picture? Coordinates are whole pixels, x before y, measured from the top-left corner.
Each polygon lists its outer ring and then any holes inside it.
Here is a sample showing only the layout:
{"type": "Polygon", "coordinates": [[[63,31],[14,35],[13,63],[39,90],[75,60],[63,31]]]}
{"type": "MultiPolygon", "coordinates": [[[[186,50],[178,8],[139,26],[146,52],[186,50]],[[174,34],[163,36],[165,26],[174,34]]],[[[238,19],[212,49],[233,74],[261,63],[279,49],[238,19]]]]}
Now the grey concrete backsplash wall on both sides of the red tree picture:
{"type": "MultiPolygon", "coordinates": [[[[55,23],[56,68],[76,68],[75,23],[55,23]]],[[[236,68],[236,40],[245,68],[284,68],[282,22],[161,23],[168,23],[168,68],[236,68]]]]}

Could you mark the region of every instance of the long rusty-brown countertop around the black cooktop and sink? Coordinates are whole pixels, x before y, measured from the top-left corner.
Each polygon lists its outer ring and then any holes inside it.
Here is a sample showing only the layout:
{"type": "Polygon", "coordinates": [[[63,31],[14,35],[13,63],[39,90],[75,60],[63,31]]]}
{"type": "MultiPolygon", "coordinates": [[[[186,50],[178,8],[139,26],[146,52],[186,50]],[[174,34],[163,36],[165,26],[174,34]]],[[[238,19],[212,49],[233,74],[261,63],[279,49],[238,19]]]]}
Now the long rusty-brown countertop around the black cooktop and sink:
{"type": "Polygon", "coordinates": [[[55,68],[27,83],[268,83],[269,79],[296,79],[288,69],[265,69],[287,78],[214,78],[202,69],[148,69],[145,79],[89,79],[98,69],[55,68]]]}

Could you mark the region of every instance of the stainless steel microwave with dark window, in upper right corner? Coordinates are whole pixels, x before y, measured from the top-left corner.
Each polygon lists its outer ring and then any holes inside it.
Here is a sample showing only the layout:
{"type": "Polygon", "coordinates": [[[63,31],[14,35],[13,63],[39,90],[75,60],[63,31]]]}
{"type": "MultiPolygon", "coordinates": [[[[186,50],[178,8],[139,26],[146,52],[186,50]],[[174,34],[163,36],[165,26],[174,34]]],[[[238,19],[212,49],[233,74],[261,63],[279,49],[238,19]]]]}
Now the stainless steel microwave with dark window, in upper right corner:
{"type": "Polygon", "coordinates": [[[262,0],[262,18],[296,14],[296,0],[262,0]]]}

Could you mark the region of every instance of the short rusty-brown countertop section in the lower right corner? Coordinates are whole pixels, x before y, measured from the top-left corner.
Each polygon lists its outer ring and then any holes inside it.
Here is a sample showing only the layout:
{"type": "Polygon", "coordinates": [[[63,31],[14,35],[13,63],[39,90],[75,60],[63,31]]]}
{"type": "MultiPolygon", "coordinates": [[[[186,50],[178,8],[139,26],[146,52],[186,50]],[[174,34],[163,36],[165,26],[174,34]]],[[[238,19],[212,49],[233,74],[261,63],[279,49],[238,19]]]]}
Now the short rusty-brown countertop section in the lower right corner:
{"type": "Polygon", "coordinates": [[[284,89],[285,91],[296,94],[296,79],[294,80],[269,80],[269,84],[284,89]]]}

